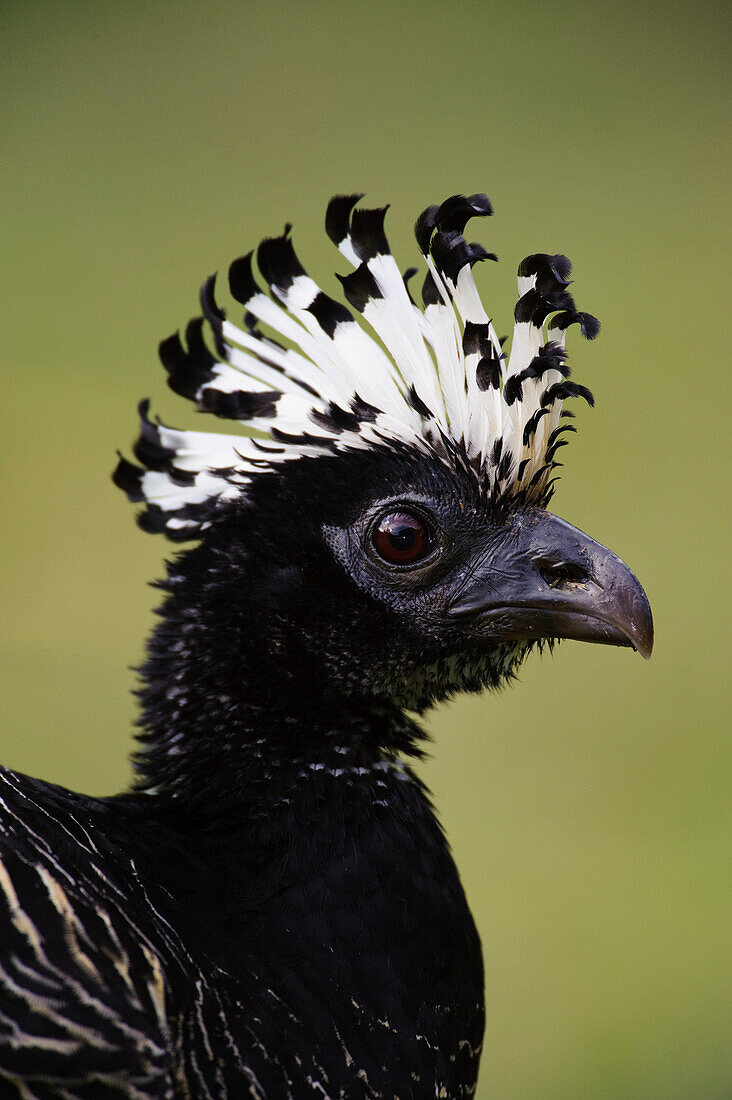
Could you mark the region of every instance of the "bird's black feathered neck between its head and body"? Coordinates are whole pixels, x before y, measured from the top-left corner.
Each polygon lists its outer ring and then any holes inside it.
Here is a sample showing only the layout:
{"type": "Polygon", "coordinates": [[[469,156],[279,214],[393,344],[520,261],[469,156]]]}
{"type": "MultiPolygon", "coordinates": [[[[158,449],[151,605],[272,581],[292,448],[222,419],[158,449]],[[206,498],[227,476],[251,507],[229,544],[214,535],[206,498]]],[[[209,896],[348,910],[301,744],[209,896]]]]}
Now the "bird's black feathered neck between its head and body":
{"type": "Polygon", "coordinates": [[[420,756],[418,726],[389,697],[334,682],[286,624],[220,582],[197,547],[168,566],[142,667],[138,788],[217,814],[271,804],[319,771],[420,756]]]}

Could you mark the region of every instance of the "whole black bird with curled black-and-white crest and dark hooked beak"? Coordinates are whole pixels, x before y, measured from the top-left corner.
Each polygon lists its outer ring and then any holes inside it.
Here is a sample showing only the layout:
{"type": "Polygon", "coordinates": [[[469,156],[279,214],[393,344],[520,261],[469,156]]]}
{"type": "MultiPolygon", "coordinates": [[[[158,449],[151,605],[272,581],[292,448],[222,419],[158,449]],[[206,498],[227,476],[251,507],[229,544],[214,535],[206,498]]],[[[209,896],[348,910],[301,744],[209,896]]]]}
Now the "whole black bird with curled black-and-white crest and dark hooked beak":
{"type": "Polygon", "coordinates": [[[175,543],[134,783],[0,771],[2,1097],[476,1092],[482,950],[420,716],[561,639],[647,658],[653,620],[548,510],[565,405],[593,402],[567,332],[599,331],[567,257],[521,262],[504,351],[473,272],[496,257],[463,235],[485,195],[417,218],[419,304],[362,199],[327,207],[338,298],[287,224],[160,344],[211,427],[143,402],[113,474],[175,543]]]}

